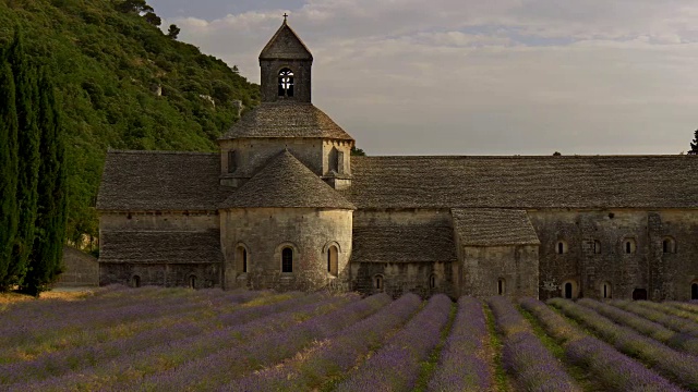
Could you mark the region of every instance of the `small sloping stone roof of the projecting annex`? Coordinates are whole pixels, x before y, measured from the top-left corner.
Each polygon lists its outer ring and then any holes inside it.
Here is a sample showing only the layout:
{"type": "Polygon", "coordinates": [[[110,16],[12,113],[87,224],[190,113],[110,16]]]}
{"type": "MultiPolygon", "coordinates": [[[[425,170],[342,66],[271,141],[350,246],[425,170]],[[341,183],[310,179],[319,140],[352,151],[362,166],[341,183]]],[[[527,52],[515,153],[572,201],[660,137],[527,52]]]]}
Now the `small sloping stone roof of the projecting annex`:
{"type": "Polygon", "coordinates": [[[452,209],[454,229],[461,245],[538,245],[540,241],[524,210],[452,209]]]}

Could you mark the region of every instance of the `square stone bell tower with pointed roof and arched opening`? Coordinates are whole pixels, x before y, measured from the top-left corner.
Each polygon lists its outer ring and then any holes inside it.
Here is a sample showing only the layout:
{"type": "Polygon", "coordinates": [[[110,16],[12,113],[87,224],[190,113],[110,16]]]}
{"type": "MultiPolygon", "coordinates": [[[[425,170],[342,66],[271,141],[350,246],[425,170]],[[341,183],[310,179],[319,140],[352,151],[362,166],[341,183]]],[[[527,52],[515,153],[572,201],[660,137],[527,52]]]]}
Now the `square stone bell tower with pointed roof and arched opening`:
{"type": "Polygon", "coordinates": [[[313,54],[284,15],[281,27],[260,53],[262,102],[311,102],[313,54]]]}

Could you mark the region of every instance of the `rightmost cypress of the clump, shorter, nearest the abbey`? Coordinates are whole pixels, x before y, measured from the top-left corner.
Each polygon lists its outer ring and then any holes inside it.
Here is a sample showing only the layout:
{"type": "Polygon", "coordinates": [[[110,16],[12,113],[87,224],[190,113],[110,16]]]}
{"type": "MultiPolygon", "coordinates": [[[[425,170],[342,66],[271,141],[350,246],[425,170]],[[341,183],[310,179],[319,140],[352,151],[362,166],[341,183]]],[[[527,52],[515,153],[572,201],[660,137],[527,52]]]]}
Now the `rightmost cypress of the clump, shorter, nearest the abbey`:
{"type": "Polygon", "coordinates": [[[22,290],[38,295],[61,272],[65,236],[65,164],[61,119],[53,85],[41,73],[38,126],[41,131],[36,237],[22,290]]]}

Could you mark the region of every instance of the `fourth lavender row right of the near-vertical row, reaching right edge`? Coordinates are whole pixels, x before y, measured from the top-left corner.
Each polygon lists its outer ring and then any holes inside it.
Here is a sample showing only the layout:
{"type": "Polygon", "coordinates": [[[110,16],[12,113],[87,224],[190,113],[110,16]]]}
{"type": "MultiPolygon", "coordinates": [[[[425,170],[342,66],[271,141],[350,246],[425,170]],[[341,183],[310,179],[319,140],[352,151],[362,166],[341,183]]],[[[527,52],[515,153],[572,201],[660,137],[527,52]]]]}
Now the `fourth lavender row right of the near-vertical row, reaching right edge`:
{"type": "Polygon", "coordinates": [[[672,331],[658,322],[598,301],[585,298],[580,299],[578,303],[582,306],[594,309],[600,315],[607,317],[616,323],[628,326],[634,330],[676,350],[698,355],[698,339],[691,335],[672,331]]]}

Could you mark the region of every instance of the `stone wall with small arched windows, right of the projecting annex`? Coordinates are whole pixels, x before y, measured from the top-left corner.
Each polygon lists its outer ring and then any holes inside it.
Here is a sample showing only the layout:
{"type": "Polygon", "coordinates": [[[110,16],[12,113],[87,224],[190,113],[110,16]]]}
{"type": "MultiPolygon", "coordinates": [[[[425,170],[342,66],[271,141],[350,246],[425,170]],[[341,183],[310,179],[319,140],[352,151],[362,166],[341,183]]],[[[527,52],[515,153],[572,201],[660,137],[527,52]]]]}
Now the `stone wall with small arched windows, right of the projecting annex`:
{"type": "Polygon", "coordinates": [[[681,210],[531,211],[541,241],[540,297],[690,298],[698,278],[698,213],[681,210]],[[664,252],[670,240],[673,249],[664,252]],[[564,252],[558,253],[558,243],[564,252]],[[631,242],[630,253],[627,242],[631,242]],[[674,253],[675,249],[675,253],[674,253]],[[610,290],[609,290],[610,289],[610,290]]]}

